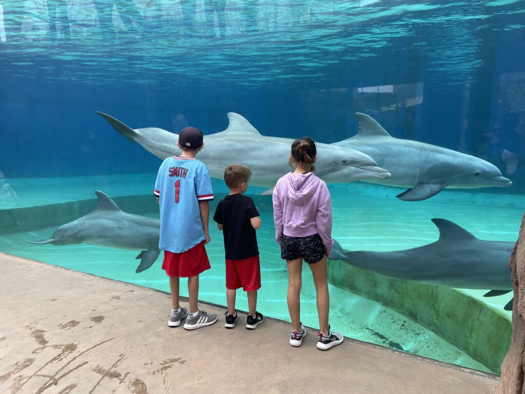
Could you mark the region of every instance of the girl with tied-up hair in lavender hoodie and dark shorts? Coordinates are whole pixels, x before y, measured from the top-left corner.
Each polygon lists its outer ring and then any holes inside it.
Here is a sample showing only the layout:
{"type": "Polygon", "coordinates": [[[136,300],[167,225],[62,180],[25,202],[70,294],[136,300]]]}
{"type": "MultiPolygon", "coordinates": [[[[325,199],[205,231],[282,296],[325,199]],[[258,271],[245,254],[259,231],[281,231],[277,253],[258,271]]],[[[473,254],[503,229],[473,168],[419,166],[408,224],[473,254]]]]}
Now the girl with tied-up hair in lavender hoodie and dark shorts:
{"type": "Polygon", "coordinates": [[[310,138],[292,143],[289,164],[295,171],[277,181],[274,189],[275,237],[281,257],[288,265],[288,310],[292,320],[290,345],[301,346],[307,334],[300,321],[302,261],[312,271],[317,292],[319,341],[317,347],[328,350],[343,341],[340,333],[328,325],[327,256],[332,253],[332,203],[327,185],[314,173],[316,144],[310,138]]]}

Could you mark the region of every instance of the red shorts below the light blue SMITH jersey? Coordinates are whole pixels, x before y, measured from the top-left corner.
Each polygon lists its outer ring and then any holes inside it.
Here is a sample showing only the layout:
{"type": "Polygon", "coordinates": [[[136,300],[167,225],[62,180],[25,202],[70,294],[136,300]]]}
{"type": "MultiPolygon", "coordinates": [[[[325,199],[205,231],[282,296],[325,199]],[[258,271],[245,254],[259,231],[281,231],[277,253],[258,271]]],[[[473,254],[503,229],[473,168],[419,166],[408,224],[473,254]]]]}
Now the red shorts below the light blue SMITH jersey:
{"type": "Polygon", "coordinates": [[[182,253],[164,251],[162,269],[167,276],[180,276],[187,278],[200,274],[209,266],[208,254],[204,248],[204,241],[196,244],[191,249],[182,253]]]}

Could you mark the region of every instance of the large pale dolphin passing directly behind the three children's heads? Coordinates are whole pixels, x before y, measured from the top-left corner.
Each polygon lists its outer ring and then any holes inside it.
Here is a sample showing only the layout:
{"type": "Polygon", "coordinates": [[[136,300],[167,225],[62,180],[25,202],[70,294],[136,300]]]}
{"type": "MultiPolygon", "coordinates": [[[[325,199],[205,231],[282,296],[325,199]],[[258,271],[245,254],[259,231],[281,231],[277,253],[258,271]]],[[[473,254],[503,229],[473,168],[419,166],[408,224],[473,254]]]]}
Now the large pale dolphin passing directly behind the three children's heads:
{"type": "MultiPolygon", "coordinates": [[[[138,142],[162,160],[180,152],[178,134],[159,128],[131,129],[106,113],[97,113],[122,136],[138,142]]],[[[205,147],[198,159],[206,164],[213,178],[223,179],[227,165],[238,163],[246,165],[253,173],[250,184],[273,188],[277,180],[290,171],[288,157],[293,139],[261,136],[250,122],[235,112],[228,112],[228,119],[226,130],[205,136],[205,147]]],[[[387,170],[377,167],[365,153],[325,143],[316,143],[316,146],[316,174],[327,183],[390,177],[387,170]]]]}

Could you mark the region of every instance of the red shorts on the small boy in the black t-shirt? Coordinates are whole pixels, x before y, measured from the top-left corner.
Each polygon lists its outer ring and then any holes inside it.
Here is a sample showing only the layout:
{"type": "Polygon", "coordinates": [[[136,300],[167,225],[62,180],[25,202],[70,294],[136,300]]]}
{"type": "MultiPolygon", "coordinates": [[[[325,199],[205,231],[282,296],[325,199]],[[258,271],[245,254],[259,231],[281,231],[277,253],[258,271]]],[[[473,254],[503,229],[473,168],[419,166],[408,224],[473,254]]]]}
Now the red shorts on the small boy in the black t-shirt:
{"type": "Polygon", "coordinates": [[[226,288],[235,290],[242,287],[245,292],[261,288],[259,256],[243,260],[226,259],[226,288]]]}

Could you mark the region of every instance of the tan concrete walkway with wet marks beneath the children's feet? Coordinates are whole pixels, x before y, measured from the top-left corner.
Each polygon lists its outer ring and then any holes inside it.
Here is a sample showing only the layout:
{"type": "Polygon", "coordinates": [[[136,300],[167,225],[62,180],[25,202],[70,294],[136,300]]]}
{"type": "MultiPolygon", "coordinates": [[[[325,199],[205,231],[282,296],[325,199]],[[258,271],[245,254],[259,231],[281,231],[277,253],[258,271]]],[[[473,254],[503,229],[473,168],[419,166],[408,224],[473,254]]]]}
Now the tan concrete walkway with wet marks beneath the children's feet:
{"type": "MultiPolygon", "coordinates": [[[[497,377],[345,339],[329,351],[310,331],[166,325],[161,292],[0,254],[0,392],[461,393],[493,392],[497,377]]],[[[187,306],[186,303],[183,303],[187,306]]]]}

